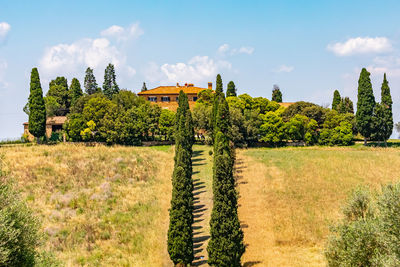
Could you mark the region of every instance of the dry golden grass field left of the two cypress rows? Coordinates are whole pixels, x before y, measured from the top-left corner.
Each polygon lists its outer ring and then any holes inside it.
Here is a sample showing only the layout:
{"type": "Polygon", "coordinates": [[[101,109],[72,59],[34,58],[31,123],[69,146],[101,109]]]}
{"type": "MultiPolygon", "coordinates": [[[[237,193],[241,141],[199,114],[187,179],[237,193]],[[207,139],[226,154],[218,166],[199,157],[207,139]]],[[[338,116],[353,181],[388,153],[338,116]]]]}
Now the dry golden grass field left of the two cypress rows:
{"type": "Polygon", "coordinates": [[[65,266],[170,266],[173,148],[0,148],[3,169],[65,266]]]}

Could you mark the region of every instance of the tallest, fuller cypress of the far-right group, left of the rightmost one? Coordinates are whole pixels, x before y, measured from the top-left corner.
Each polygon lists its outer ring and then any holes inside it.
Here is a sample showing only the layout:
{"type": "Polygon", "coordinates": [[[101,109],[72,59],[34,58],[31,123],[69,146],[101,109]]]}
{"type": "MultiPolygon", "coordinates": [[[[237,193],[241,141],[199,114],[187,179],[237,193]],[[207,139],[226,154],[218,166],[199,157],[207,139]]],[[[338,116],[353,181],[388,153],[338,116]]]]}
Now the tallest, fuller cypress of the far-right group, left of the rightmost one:
{"type": "Polygon", "coordinates": [[[358,131],[364,136],[364,145],[367,145],[367,138],[374,132],[372,117],[375,107],[375,97],[369,75],[370,73],[363,68],[358,80],[356,125],[358,131]]]}

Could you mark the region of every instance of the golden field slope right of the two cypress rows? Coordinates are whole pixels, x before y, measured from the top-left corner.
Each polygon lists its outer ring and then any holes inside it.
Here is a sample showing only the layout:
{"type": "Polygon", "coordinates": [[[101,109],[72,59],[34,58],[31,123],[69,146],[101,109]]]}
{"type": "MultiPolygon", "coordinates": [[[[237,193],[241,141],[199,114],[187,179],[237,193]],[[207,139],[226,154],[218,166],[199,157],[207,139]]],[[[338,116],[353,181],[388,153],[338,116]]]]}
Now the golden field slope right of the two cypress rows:
{"type": "Polygon", "coordinates": [[[329,226],[358,185],[398,181],[394,148],[238,151],[239,218],[245,266],[324,266],[329,226]]]}

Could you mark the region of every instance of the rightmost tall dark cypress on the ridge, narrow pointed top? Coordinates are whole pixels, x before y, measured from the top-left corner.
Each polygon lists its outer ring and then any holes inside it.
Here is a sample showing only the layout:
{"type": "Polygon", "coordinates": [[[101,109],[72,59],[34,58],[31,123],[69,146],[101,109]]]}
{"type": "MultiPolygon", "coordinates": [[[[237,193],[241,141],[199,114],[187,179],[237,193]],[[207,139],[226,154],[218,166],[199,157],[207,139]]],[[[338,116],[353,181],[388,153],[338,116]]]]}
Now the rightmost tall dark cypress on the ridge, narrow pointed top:
{"type": "Polygon", "coordinates": [[[392,104],[392,96],[390,95],[389,83],[385,73],[381,87],[381,103],[375,106],[375,129],[373,134],[373,138],[384,141],[385,146],[387,146],[387,139],[389,139],[393,132],[392,104]]]}

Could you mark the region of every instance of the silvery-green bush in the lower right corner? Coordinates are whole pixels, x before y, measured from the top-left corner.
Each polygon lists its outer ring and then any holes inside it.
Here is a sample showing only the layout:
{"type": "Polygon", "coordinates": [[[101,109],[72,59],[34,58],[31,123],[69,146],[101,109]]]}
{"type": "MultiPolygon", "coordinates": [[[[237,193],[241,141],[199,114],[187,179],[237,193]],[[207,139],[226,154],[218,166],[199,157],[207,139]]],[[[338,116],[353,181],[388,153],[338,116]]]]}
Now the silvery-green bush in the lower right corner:
{"type": "Polygon", "coordinates": [[[333,228],[325,252],[329,266],[399,266],[400,186],[375,195],[356,190],[333,228]]]}

